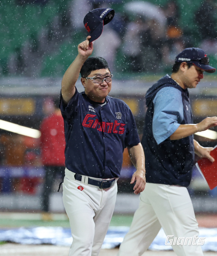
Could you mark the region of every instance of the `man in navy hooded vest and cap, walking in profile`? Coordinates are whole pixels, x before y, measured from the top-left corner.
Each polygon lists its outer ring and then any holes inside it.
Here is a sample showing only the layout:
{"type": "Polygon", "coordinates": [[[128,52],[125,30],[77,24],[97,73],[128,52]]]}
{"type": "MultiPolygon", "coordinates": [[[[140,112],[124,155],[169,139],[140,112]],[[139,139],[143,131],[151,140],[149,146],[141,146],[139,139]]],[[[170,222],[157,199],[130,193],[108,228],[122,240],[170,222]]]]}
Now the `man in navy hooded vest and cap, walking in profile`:
{"type": "Polygon", "coordinates": [[[193,124],[188,88],[195,88],[203,71],[213,73],[209,58],[199,48],[178,54],[171,76],[165,75],[146,93],[142,146],[145,153],[146,186],[140,194],[129,233],[119,256],[139,256],[145,252],[160,228],[179,256],[203,255],[198,239],[198,223],[186,187],[194,165],[194,153],[210,161],[213,148],[203,148],[193,134],[217,125],[217,117],[193,124]]]}

